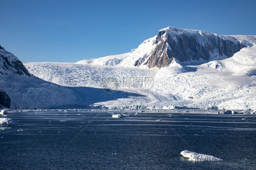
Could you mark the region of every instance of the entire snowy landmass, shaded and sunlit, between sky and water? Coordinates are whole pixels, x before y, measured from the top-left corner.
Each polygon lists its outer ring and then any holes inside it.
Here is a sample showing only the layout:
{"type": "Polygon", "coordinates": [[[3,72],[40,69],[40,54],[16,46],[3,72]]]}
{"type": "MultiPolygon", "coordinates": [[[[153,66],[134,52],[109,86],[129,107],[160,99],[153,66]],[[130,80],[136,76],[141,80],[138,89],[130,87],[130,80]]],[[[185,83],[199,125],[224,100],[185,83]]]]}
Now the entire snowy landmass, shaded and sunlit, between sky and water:
{"type": "Polygon", "coordinates": [[[256,109],[253,35],[168,27],[130,53],[26,68],[2,47],[0,55],[0,92],[11,108],[256,109]],[[102,89],[106,78],[117,92],[102,89]]]}

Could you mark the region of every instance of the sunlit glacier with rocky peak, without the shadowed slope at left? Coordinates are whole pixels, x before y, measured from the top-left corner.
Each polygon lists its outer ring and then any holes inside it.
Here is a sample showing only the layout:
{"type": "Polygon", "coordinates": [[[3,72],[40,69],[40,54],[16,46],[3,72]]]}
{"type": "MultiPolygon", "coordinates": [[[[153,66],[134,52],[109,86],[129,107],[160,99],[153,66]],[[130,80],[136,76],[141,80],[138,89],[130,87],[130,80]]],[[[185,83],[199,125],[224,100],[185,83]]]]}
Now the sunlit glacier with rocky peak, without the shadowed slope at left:
{"type": "Polygon", "coordinates": [[[61,86],[102,88],[112,77],[119,91],[140,95],[115,98],[113,93],[109,101],[94,102],[110,108],[256,109],[256,36],[168,27],[130,53],[24,64],[31,74],[61,86]]]}

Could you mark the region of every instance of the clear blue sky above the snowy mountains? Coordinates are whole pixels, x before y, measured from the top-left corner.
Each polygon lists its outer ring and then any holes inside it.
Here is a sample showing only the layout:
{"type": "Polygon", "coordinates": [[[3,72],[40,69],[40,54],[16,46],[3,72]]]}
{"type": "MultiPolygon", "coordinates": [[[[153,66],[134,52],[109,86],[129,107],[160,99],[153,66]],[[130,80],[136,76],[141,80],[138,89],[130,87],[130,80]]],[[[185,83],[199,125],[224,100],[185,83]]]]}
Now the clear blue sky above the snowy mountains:
{"type": "Polygon", "coordinates": [[[0,45],[22,62],[126,53],[168,26],[256,35],[256,0],[0,0],[0,6],[0,45]]]}

